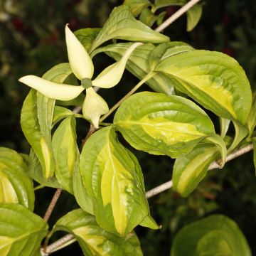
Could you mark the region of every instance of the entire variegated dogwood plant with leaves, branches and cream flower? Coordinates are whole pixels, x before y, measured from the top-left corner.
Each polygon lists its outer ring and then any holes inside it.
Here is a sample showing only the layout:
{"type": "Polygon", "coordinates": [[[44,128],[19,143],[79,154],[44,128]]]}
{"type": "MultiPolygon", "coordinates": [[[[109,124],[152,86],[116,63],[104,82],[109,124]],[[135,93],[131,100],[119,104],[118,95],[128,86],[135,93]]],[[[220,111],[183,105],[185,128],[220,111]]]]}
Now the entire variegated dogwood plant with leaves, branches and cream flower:
{"type": "MultiPolygon", "coordinates": [[[[201,18],[198,2],[125,0],[102,28],[73,33],[66,25],[68,63],[55,65],[42,78],[19,79],[31,87],[21,110],[31,151],[0,148],[0,255],[49,255],[75,241],[85,255],[142,255],[134,228],[142,225],[156,234],[161,228],[147,198],[169,188],[189,196],[208,170],[252,149],[255,100],[238,62],[160,33],[184,13],[191,31],[201,18]],[[158,10],[171,5],[181,9],[164,21],[165,11],[158,10]],[[114,63],[94,78],[92,60],[99,53],[114,63]],[[118,86],[125,68],[139,82],[109,110],[101,88],[118,86]],[[149,89],[136,92],[144,83],[149,89]],[[70,110],[78,102],[82,107],[70,110]],[[206,112],[219,118],[220,134],[206,112]],[[112,122],[103,122],[112,113],[112,122]],[[90,122],[82,145],[77,144],[77,118],[90,122]],[[233,137],[227,136],[230,123],[233,137]],[[176,159],[172,180],[145,192],[139,161],[120,136],[134,149],[176,159]],[[33,213],[34,183],[56,188],[43,218],[33,213]],[[80,208],[49,229],[63,190],[80,208]],[[58,230],[69,234],[52,242],[58,230]]],[[[233,220],[210,215],[178,232],[171,255],[251,252],[233,220]]]]}

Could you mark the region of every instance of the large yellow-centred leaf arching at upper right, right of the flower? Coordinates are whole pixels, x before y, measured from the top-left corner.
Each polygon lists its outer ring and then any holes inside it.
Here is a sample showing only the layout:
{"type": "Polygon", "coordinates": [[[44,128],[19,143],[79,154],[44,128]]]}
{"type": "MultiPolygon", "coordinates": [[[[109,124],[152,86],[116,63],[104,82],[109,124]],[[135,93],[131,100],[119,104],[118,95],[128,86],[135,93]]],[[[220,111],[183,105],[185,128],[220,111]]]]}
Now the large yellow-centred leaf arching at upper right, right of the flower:
{"type": "Polygon", "coordinates": [[[164,58],[156,71],[177,80],[176,89],[186,93],[220,117],[245,124],[252,92],[244,70],[223,53],[191,50],[164,58]]]}

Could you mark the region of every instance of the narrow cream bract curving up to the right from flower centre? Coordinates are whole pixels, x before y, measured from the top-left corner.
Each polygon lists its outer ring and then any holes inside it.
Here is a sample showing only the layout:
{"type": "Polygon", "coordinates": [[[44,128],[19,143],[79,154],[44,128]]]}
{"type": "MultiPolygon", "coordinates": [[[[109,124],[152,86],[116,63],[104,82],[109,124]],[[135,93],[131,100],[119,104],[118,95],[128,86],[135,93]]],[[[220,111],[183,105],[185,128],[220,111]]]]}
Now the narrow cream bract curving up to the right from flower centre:
{"type": "Polygon", "coordinates": [[[121,80],[122,75],[124,73],[124,68],[127,63],[129,56],[132,54],[137,46],[141,46],[143,43],[134,43],[130,46],[122,58],[110,65],[109,67],[105,68],[105,70],[100,73],[100,75],[92,81],[93,86],[101,87],[101,88],[111,88],[114,85],[117,85],[118,82],[121,80]]]}

